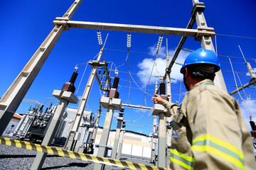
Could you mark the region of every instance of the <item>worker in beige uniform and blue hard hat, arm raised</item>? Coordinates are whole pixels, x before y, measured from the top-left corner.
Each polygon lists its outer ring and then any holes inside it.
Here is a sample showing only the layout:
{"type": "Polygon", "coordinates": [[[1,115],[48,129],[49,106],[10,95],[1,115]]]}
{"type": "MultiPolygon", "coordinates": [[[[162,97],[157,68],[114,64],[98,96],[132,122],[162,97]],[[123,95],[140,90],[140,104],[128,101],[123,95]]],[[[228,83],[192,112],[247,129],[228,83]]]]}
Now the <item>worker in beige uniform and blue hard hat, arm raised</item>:
{"type": "Polygon", "coordinates": [[[181,67],[188,93],[180,106],[154,94],[151,101],[173,115],[168,169],[253,169],[252,137],[238,102],[214,86],[220,70],[212,50],[191,52],[181,67]]]}

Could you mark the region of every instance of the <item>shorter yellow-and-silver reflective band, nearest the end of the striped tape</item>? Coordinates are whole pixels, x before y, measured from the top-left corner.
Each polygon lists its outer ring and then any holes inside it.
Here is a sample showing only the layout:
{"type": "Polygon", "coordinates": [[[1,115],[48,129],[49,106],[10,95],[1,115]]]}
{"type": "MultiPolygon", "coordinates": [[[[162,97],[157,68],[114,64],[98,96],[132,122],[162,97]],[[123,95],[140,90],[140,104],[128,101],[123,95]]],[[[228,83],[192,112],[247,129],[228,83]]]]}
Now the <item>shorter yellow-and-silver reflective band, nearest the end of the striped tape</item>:
{"type": "Polygon", "coordinates": [[[171,149],[170,159],[171,162],[183,166],[183,168],[185,169],[193,170],[193,163],[195,162],[195,159],[193,159],[193,157],[189,157],[186,154],[182,154],[181,152],[171,149]]]}

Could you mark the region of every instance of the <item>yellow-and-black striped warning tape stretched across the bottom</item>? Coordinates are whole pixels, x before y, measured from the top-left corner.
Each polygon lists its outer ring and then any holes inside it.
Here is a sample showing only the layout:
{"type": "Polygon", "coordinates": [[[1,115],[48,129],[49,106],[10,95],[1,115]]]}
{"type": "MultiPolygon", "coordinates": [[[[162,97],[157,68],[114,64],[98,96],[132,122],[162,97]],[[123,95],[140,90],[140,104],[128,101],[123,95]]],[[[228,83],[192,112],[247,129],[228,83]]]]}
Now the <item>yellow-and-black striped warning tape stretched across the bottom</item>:
{"type": "Polygon", "coordinates": [[[23,149],[33,150],[37,152],[44,152],[47,154],[55,154],[60,157],[69,157],[72,159],[80,159],[85,162],[92,162],[97,164],[105,164],[109,166],[116,166],[122,169],[152,169],[152,170],[166,170],[165,168],[159,168],[156,166],[147,166],[144,164],[134,164],[132,162],[122,162],[118,159],[108,159],[105,157],[96,157],[93,154],[82,154],[78,152],[72,152],[69,150],[63,150],[56,147],[48,147],[38,144],[31,144],[30,142],[21,142],[19,140],[11,140],[7,137],[0,137],[0,144],[9,145],[13,147],[19,147],[23,149]]]}

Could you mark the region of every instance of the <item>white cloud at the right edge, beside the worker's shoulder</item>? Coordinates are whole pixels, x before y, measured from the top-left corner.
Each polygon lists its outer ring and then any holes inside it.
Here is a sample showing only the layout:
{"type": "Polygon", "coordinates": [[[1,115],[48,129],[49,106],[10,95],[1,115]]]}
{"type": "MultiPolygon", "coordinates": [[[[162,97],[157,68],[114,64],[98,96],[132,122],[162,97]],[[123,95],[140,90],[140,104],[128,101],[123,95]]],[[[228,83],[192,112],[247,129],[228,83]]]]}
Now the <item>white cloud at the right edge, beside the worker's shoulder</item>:
{"type": "Polygon", "coordinates": [[[256,101],[255,100],[247,100],[245,102],[240,101],[240,108],[243,117],[245,118],[245,122],[249,128],[249,130],[252,130],[250,127],[250,114],[252,115],[252,120],[256,121],[255,113],[256,113],[256,101]]]}

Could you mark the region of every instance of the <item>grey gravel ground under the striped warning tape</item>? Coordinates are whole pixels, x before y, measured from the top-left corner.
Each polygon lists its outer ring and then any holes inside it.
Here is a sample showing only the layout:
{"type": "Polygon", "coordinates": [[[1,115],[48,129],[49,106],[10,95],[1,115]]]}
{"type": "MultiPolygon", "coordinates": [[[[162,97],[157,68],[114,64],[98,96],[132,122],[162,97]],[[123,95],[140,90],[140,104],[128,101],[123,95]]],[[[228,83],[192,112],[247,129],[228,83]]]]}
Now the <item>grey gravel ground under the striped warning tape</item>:
{"type": "MultiPolygon", "coordinates": [[[[10,147],[7,145],[0,145],[0,169],[30,169],[33,160],[36,157],[36,152],[21,149],[18,147],[10,147]]],[[[148,161],[140,159],[132,159],[127,157],[121,158],[123,161],[133,162],[136,164],[154,165],[148,161]]],[[[76,159],[66,157],[58,157],[50,155],[46,157],[42,169],[94,169],[94,164],[90,162],[83,162],[76,159]]],[[[105,166],[106,170],[120,169],[114,166],[105,166]]]]}

